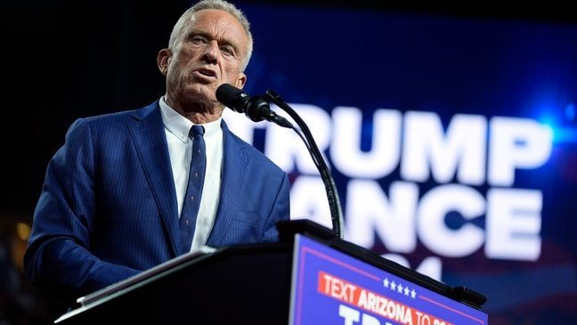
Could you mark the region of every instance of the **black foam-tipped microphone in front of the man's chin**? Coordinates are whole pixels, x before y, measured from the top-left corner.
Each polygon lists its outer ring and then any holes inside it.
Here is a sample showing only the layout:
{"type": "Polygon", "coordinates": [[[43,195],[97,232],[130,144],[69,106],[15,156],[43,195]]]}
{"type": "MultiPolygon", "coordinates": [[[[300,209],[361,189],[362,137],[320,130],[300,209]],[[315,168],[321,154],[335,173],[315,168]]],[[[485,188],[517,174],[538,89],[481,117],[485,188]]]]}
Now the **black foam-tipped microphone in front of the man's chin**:
{"type": "Polygon", "coordinates": [[[248,93],[233,85],[223,84],[216,88],[216,99],[229,109],[244,113],[253,122],[265,119],[279,126],[293,127],[286,118],[278,116],[274,110],[271,110],[264,96],[249,96],[248,93]]]}

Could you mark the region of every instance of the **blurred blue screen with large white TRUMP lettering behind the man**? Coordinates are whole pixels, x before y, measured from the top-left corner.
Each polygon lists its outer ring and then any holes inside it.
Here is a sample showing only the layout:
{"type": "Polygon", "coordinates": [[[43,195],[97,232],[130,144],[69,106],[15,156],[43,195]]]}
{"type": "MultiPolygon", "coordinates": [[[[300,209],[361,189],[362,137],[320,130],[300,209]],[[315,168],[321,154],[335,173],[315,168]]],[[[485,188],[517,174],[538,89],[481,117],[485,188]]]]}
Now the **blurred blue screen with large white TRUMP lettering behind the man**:
{"type": "MultiPolygon", "coordinates": [[[[577,321],[575,23],[238,4],[245,90],[310,127],[346,240],[483,293],[493,325],[577,321]]],[[[292,217],[330,227],[297,134],[225,118],[289,173],[292,217]]]]}

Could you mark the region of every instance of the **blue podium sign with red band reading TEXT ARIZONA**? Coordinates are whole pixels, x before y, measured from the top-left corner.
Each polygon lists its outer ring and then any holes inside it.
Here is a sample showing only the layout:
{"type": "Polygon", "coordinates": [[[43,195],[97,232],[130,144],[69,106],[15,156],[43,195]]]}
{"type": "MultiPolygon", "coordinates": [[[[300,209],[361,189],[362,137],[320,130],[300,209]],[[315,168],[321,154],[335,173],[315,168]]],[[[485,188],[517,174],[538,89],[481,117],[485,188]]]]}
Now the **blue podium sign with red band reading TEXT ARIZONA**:
{"type": "Polygon", "coordinates": [[[469,305],[297,234],[289,324],[484,325],[469,305]]]}

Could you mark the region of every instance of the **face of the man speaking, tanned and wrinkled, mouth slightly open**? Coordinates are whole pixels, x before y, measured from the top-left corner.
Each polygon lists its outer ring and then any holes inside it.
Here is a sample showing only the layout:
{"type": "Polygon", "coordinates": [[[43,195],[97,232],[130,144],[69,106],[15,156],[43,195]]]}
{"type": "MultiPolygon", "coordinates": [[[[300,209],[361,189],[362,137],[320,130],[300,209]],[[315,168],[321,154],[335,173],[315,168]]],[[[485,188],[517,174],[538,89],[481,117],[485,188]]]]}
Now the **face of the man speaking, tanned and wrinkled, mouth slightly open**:
{"type": "Polygon", "coordinates": [[[231,14],[201,10],[183,28],[166,58],[167,93],[182,107],[190,102],[218,104],[216,88],[223,83],[238,88],[246,82],[241,71],[248,37],[231,14]]]}

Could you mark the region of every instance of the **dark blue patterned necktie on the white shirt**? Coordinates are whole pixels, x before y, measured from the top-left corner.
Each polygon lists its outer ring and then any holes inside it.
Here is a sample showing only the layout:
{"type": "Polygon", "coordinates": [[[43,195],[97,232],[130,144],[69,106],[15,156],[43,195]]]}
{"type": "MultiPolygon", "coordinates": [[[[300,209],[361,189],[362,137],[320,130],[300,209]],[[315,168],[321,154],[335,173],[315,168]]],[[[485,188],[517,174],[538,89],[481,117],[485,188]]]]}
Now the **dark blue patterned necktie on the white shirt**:
{"type": "Polygon", "coordinates": [[[192,126],[191,132],[189,132],[189,136],[192,139],[192,158],[186,195],[184,195],[183,212],[180,218],[181,254],[188,253],[191,250],[192,236],[194,235],[197,215],[199,214],[202,185],[204,184],[204,175],[207,167],[207,150],[203,134],[203,126],[192,126]]]}

